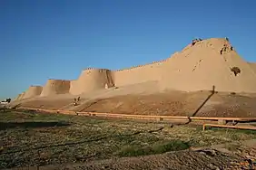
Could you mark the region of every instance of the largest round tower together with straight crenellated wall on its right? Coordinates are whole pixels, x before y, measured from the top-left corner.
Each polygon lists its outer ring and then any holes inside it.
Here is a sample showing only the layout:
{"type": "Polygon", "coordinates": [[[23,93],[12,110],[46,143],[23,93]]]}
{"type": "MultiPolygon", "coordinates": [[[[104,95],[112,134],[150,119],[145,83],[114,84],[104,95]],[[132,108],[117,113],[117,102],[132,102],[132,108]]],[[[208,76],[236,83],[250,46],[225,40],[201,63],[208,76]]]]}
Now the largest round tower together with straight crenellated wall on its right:
{"type": "Polygon", "coordinates": [[[70,81],[69,92],[79,95],[94,90],[103,90],[106,85],[107,88],[111,88],[159,80],[164,61],[166,60],[118,71],[88,68],[81,72],[77,80],[70,81]]]}

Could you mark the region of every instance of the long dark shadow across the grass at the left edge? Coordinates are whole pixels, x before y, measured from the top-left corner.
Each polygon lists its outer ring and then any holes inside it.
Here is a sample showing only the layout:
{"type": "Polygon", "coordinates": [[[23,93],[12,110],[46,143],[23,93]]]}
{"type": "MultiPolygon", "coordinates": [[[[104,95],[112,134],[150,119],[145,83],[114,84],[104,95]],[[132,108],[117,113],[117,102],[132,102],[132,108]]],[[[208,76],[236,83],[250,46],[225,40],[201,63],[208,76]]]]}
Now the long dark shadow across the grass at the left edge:
{"type": "Polygon", "coordinates": [[[66,127],[66,126],[70,126],[70,124],[67,122],[60,122],[60,121],[0,122],[0,130],[15,128],[15,127],[33,128],[33,127],[66,127]]]}

